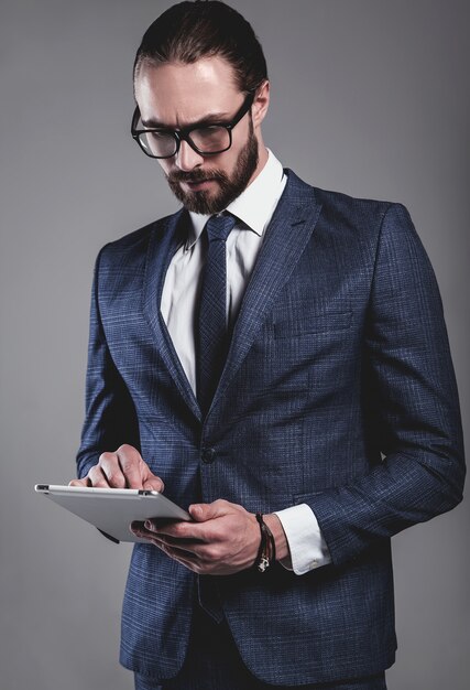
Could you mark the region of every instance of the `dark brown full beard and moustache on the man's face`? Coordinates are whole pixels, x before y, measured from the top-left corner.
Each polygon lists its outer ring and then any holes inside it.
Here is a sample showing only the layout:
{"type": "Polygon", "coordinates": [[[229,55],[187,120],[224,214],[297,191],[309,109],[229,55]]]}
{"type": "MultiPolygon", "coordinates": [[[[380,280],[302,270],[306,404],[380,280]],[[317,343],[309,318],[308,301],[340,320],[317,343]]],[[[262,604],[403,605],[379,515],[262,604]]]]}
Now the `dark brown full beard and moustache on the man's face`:
{"type": "Polygon", "coordinates": [[[241,149],[231,176],[222,170],[200,170],[192,172],[176,170],[166,175],[170,188],[183,206],[194,213],[214,215],[221,213],[231,204],[248,186],[251,176],[258,165],[258,140],[253,131],[253,122],[250,118],[250,132],[244,147],[241,149]],[[181,182],[204,182],[205,180],[216,180],[219,191],[210,195],[207,190],[198,192],[185,192],[181,182]]]}

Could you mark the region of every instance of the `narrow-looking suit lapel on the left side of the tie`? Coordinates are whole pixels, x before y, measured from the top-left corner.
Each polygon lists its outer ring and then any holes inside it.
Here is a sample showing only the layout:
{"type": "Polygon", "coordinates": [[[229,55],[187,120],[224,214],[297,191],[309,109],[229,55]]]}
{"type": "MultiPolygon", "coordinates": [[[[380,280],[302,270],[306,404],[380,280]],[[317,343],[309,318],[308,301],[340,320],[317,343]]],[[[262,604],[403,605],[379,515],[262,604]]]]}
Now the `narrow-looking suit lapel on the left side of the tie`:
{"type": "Polygon", "coordinates": [[[146,257],[143,311],[153,331],[159,353],[172,375],[179,393],[195,417],[200,419],[201,414],[196,397],[160,311],[166,270],[175,251],[186,239],[187,223],[187,214],[184,209],[181,209],[173,216],[163,218],[156,224],[146,257]]]}

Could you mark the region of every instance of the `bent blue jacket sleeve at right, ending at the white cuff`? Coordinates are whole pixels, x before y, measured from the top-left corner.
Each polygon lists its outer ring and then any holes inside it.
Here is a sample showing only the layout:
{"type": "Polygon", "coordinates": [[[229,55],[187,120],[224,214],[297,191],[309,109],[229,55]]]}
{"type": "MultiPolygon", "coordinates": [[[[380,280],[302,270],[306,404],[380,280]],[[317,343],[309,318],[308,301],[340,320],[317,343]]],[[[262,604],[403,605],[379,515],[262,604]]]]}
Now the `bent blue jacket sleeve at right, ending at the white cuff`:
{"type": "Polygon", "coordinates": [[[462,498],[462,431],[442,305],[429,259],[398,204],[382,222],[362,381],[367,433],[383,461],[309,502],[335,564],[462,498]]]}

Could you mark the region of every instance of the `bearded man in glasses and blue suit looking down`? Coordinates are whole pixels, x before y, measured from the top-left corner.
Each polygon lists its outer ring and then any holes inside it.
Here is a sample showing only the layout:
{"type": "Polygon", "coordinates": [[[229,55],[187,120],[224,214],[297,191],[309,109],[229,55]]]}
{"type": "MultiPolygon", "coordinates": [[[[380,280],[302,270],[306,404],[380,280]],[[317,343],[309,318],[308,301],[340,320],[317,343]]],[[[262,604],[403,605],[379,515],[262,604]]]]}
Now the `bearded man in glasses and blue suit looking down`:
{"type": "Polygon", "coordinates": [[[98,257],[74,483],[193,519],[132,526],[121,662],[138,690],[383,689],[391,537],[464,475],[429,261],[403,206],[265,147],[265,60],[225,3],[150,26],[134,95],[182,208],[98,257]]]}

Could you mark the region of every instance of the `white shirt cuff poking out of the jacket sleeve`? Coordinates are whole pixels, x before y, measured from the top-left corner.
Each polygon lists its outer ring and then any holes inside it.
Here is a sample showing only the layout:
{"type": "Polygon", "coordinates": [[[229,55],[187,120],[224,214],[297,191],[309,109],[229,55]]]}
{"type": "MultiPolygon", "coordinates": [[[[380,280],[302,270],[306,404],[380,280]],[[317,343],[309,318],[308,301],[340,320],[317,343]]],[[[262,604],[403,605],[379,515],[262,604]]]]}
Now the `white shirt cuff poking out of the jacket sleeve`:
{"type": "Polygon", "coordinates": [[[321,535],[317,518],[306,503],[285,510],[276,510],[274,515],[281,520],[291,551],[292,568],[282,563],[296,575],[331,563],[331,557],[321,535]]]}

